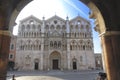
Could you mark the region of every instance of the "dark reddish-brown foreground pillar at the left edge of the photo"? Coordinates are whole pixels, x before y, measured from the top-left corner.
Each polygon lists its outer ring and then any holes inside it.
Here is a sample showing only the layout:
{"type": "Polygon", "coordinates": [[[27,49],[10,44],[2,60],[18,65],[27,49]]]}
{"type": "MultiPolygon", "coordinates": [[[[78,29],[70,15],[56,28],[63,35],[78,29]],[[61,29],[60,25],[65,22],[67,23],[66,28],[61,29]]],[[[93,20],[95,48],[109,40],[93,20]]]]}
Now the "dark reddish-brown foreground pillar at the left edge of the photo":
{"type": "Polygon", "coordinates": [[[0,80],[6,80],[9,45],[9,31],[0,30],[0,80]]]}

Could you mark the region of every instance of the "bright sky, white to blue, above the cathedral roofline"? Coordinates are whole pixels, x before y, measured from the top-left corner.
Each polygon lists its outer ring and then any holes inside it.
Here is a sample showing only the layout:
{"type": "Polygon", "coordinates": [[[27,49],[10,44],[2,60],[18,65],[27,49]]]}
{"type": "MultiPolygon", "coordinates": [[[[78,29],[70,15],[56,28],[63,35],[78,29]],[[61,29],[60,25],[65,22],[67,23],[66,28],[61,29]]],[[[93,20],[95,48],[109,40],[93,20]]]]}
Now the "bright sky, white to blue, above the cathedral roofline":
{"type": "Polygon", "coordinates": [[[72,19],[76,16],[82,16],[83,18],[90,20],[93,30],[93,42],[94,52],[101,53],[100,39],[98,33],[94,31],[93,20],[89,19],[90,9],[79,0],[33,0],[27,4],[19,13],[14,27],[13,34],[17,35],[18,25],[20,20],[33,15],[38,19],[48,19],[54,15],[57,15],[63,19],[68,16],[72,19]]]}

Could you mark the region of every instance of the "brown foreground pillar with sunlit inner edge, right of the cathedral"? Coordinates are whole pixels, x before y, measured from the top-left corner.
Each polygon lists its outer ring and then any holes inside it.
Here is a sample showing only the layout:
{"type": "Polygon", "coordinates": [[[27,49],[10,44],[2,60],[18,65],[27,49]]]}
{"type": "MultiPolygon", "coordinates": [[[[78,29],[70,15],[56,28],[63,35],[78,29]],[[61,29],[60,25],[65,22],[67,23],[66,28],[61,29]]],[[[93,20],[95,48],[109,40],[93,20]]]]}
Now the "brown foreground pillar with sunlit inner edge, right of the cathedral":
{"type": "Polygon", "coordinates": [[[103,56],[108,80],[120,80],[120,32],[101,35],[103,56]]]}

